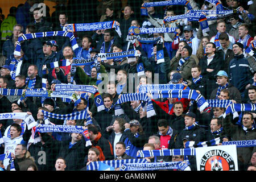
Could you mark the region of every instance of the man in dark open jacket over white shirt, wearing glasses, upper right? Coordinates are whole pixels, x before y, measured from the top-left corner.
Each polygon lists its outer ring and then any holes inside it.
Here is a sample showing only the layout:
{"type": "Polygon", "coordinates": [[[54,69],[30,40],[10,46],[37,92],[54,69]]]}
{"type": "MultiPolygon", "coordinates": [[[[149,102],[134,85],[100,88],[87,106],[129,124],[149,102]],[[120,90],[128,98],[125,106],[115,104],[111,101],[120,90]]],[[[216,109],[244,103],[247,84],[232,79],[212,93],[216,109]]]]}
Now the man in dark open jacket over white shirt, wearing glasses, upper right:
{"type": "Polygon", "coordinates": [[[205,52],[207,53],[207,56],[203,57],[203,59],[200,59],[199,65],[201,67],[202,76],[207,79],[207,84],[205,85],[205,98],[209,99],[210,93],[214,88],[217,87],[214,75],[223,69],[224,63],[220,53],[216,52],[216,46],[214,43],[208,42],[205,47],[205,52]]]}

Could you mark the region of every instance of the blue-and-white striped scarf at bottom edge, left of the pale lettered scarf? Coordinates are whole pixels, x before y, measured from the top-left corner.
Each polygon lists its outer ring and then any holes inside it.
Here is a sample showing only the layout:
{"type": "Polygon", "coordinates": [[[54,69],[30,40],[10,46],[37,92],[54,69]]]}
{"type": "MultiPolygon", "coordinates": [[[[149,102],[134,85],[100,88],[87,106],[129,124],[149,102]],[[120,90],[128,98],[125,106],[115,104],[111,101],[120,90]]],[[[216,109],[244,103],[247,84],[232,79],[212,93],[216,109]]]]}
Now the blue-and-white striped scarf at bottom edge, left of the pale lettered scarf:
{"type": "MultiPolygon", "coordinates": [[[[87,166],[87,171],[98,170],[100,164],[99,161],[91,162],[87,166]]],[[[107,164],[108,166],[114,168],[120,168],[123,164],[130,164],[130,163],[148,163],[146,159],[122,159],[122,160],[103,160],[101,163],[107,164]]]]}

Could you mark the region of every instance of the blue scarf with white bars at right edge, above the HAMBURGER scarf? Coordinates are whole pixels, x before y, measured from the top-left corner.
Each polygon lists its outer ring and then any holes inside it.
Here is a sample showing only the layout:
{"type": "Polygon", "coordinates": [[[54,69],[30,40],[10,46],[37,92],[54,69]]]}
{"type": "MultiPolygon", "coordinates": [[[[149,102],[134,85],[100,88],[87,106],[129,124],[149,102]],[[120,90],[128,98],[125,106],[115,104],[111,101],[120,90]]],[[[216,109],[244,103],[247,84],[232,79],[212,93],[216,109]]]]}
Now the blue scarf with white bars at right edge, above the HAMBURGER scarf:
{"type": "Polygon", "coordinates": [[[233,118],[239,117],[237,112],[239,111],[255,111],[256,104],[231,104],[226,109],[225,113],[223,114],[223,118],[226,117],[226,114],[232,113],[233,118]]]}

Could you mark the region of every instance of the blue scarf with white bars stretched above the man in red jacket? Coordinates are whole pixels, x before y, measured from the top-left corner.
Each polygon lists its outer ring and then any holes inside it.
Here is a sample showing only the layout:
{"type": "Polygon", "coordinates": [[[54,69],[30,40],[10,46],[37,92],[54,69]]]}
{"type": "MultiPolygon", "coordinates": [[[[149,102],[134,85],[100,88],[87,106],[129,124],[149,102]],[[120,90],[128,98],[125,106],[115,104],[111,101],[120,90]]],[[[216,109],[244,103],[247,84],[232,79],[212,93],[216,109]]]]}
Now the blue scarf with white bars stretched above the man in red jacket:
{"type": "Polygon", "coordinates": [[[154,99],[156,98],[188,98],[195,100],[200,111],[203,111],[205,107],[208,107],[208,102],[205,101],[201,94],[198,94],[196,90],[158,90],[150,91],[154,99]]]}

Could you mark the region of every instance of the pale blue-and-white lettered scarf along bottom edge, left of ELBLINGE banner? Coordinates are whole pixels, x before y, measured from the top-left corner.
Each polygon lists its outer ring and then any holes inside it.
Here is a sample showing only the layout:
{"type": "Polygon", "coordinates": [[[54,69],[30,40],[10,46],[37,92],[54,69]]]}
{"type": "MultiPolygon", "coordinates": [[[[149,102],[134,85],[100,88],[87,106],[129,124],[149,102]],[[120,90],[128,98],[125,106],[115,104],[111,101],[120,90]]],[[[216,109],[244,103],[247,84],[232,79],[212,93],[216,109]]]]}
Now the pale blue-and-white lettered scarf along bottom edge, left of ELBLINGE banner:
{"type": "Polygon", "coordinates": [[[152,171],[160,169],[180,169],[183,171],[187,166],[183,162],[163,162],[163,163],[133,163],[123,164],[120,171],[152,171]],[[182,166],[182,167],[181,167],[182,166]]]}

